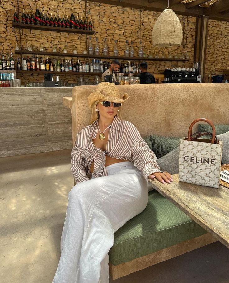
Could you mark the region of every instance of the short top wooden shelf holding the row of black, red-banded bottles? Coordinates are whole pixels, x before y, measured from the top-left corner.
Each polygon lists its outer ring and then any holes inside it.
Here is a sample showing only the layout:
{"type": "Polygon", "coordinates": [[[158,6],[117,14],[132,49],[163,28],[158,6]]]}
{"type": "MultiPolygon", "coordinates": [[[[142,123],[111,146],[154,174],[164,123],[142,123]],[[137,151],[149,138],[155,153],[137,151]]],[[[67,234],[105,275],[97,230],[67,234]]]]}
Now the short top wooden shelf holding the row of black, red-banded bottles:
{"type": "Polygon", "coordinates": [[[40,31],[56,31],[56,32],[68,32],[68,33],[76,33],[76,34],[89,34],[92,35],[95,31],[88,30],[77,30],[72,28],[63,28],[63,27],[55,27],[55,26],[37,26],[37,25],[28,25],[22,23],[13,23],[14,28],[22,28],[29,30],[40,30],[40,31]]]}

